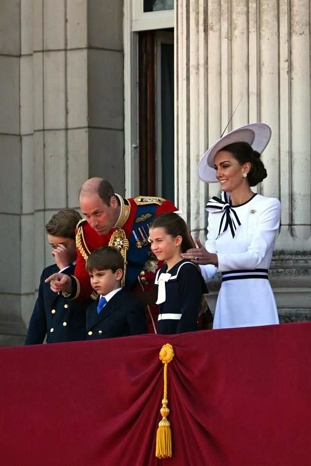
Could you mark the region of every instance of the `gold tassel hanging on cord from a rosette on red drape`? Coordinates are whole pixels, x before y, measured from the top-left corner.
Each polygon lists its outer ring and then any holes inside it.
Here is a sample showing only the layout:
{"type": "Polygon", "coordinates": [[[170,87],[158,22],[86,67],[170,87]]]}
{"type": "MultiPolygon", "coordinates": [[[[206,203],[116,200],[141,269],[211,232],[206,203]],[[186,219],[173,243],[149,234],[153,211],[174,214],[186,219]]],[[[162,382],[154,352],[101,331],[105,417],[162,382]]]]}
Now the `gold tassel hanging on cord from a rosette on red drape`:
{"type": "Polygon", "coordinates": [[[158,424],[156,431],[156,457],[171,458],[172,456],[172,432],[170,422],[167,420],[169,408],[167,407],[167,364],[174,358],[174,350],[172,345],[166,343],[162,346],[159,358],[164,364],[164,394],[162,399],[162,407],[160,413],[162,420],[158,424]]]}

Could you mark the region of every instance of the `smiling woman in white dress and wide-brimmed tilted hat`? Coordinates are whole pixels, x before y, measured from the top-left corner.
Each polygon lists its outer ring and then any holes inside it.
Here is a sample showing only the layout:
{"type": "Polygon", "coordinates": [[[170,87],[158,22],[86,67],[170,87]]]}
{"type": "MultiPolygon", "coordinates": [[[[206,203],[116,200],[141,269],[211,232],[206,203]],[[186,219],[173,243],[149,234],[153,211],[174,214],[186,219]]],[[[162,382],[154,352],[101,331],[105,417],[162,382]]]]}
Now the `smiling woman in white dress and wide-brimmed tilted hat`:
{"type": "Polygon", "coordinates": [[[198,176],[219,182],[221,198],[207,203],[205,248],[184,258],[199,264],[205,280],[222,273],[213,328],[279,323],[268,269],[280,224],[280,202],[254,193],[250,186],[267,177],[260,154],[271,138],[263,123],[238,128],[203,155],[198,176]]]}

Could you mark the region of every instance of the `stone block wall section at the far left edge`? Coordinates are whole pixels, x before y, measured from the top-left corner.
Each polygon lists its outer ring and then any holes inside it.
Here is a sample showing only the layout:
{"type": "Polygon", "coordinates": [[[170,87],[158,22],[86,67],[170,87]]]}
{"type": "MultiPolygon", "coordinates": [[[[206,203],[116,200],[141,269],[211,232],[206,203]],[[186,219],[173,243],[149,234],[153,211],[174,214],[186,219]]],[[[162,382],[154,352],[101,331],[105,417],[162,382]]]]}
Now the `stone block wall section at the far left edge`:
{"type": "Polygon", "coordinates": [[[0,345],[23,340],[24,310],[34,292],[31,7],[4,0],[0,15],[0,345]]]}

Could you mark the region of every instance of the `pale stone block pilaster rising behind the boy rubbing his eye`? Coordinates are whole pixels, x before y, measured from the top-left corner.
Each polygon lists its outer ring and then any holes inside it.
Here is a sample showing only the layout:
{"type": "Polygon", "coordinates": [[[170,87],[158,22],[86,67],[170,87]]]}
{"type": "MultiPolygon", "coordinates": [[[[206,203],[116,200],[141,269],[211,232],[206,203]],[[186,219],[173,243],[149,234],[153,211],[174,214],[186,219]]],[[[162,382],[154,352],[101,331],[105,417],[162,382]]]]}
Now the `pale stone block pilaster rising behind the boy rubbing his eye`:
{"type": "Polygon", "coordinates": [[[78,188],[88,177],[87,1],[33,0],[32,19],[38,287],[43,267],[53,262],[45,223],[59,209],[78,209],[78,188]]]}

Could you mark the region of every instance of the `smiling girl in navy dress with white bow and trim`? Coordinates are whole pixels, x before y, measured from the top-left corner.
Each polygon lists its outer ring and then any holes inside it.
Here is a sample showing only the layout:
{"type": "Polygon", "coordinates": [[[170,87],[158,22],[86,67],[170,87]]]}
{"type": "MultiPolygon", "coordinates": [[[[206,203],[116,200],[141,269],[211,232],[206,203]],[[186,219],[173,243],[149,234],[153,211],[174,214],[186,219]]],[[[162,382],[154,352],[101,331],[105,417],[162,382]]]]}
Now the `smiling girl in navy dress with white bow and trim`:
{"type": "Polygon", "coordinates": [[[208,291],[198,267],[181,257],[193,247],[186,222],[173,212],[158,215],[150,225],[149,235],[157,259],[166,262],[155,280],[159,305],[157,333],[198,330],[202,294],[208,291]]]}

